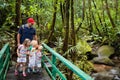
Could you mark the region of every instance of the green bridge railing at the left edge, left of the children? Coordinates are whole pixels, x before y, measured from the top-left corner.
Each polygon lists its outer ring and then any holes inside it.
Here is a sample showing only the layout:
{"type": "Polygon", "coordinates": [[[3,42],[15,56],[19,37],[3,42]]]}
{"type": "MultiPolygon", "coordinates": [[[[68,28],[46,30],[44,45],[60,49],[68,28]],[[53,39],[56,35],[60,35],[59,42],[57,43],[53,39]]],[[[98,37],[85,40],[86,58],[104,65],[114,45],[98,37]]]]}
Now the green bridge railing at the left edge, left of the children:
{"type": "Polygon", "coordinates": [[[9,44],[7,43],[0,51],[0,80],[6,80],[9,62],[10,62],[10,47],[9,44]]]}

